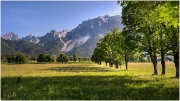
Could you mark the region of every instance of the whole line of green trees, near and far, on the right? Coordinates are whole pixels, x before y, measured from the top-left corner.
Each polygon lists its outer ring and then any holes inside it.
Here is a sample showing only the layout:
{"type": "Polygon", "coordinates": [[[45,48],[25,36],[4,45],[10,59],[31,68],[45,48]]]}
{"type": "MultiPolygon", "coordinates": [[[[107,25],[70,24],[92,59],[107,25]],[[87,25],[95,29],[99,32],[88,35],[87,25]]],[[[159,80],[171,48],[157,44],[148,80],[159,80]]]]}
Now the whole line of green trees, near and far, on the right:
{"type": "Polygon", "coordinates": [[[162,75],[166,73],[165,55],[172,52],[179,78],[179,2],[118,1],[122,6],[123,30],[113,29],[97,43],[92,61],[110,66],[125,62],[134,54],[150,56],[154,75],[158,74],[157,55],[161,56],[162,75]]]}

